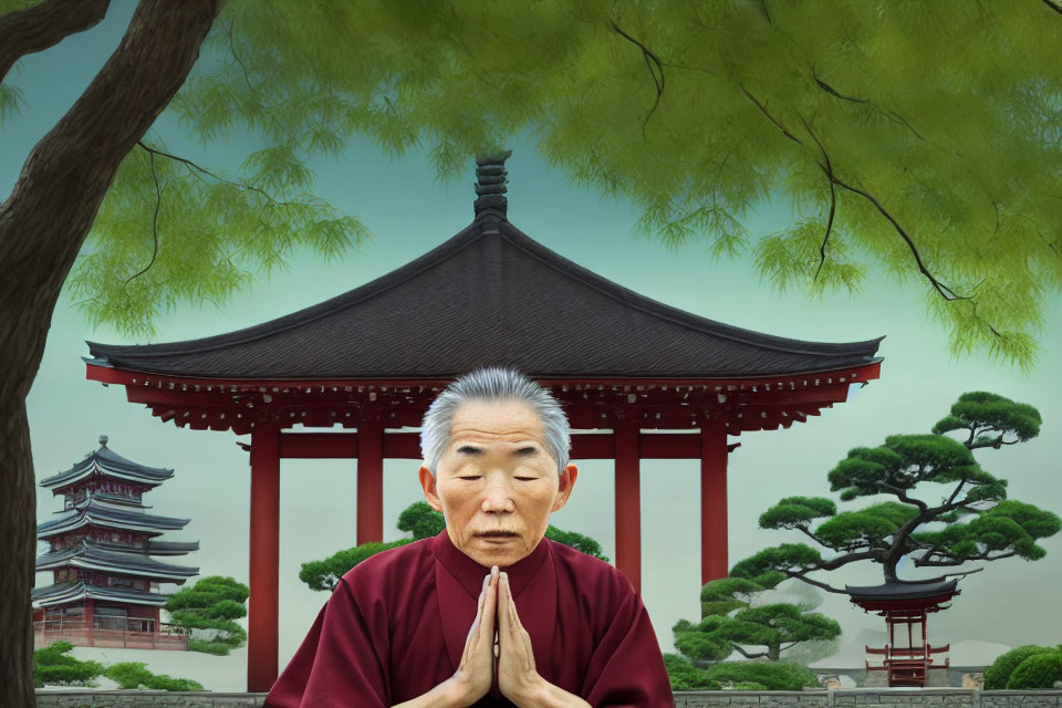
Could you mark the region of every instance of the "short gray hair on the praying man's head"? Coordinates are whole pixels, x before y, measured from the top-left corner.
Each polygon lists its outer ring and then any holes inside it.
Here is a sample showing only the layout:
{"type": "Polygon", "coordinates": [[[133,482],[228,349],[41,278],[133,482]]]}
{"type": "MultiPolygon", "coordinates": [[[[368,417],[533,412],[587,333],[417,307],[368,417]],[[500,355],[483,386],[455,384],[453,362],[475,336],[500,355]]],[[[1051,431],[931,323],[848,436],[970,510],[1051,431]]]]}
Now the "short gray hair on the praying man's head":
{"type": "Polygon", "coordinates": [[[542,421],[542,434],[550,457],[561,473],[568,466],[572,446],[571,426],[550,392],[520,372],[500,366],[477,368],[458,377],[428,407],[420,424],[420,455],[425,466],[436,473],[439,458],[450,444],[454,413],[469,400],[520,400],[534,409],[542,421]]]}

